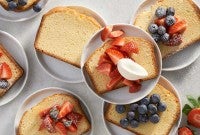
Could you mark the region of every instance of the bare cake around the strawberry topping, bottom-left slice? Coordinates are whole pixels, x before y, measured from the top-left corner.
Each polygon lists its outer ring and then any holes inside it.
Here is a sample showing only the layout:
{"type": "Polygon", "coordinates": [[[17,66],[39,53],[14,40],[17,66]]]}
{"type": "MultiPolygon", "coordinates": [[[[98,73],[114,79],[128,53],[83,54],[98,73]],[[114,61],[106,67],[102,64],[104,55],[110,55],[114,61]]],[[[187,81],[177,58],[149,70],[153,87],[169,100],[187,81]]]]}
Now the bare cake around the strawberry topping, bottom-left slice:
{"type": "Polygon", "coordinates": [[[23,114],[18,127],[18,135],[60,135],[58,132],[49,133],[46,129],[39,131],[42,123],[39,113],[46,108],[54,106],[55,104],[62,105],[65,101],[71,102],[74,105],[74,111],[82,115],[77,132],[68,131],[67,135],[81,135],[88,132],[91,126],[81,108],[79,100],[68,94],[54,94],[44,98],[40,103],[23,114]]]}

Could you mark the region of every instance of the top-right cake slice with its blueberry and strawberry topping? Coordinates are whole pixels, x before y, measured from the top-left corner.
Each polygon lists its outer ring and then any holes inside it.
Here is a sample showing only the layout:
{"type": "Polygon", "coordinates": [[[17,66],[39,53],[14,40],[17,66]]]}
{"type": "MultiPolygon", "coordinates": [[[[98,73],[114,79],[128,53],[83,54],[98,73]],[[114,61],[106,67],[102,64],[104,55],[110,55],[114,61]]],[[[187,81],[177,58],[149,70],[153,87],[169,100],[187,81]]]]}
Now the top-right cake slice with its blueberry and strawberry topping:
{"type": "Polygon", "coordinates": [[[200,41],[200,9],[192,0],[158,0],[133,24],[152,35],[163,58],[200,41]]]}

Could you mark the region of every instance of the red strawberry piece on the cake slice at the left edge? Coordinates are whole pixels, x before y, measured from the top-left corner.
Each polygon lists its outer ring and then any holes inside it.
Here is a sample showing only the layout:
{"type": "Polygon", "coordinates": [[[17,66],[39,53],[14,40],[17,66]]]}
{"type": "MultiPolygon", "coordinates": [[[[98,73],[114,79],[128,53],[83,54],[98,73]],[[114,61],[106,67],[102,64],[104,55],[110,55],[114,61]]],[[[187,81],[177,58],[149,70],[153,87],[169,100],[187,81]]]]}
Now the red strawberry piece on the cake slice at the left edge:
{"type": "Polygon", "coordinates": [[[12,71],[10,69],[10,66],[6,64],[5,62],[1,64],[2,66],[2,73],[1,73],[1,79],[10,79],[12,77],[12,71]]]}

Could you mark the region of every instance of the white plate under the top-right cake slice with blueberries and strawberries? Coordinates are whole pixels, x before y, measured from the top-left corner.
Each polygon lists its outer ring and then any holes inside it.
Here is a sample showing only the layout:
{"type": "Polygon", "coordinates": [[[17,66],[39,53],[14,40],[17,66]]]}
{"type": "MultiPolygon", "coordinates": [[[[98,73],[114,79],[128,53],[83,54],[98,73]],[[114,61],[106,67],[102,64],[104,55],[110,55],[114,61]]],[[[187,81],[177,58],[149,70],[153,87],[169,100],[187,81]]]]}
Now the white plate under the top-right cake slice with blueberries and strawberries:
{"type": "MultiPolygon", "coordinates": [[[[138,8],[135,8],[130,24],[136,19],[138,13],[149,9],[156,0],[145,0],[138,8]]],[[[198,4],[196,4],[198,6],[198,4]]],[[[183,49],[182,51],[163,59],[162,71],[175,71],[192,64],[200,56],[200,42],[183,49]],[[192,53],[191,53],[192,52],[192,53]]]]}

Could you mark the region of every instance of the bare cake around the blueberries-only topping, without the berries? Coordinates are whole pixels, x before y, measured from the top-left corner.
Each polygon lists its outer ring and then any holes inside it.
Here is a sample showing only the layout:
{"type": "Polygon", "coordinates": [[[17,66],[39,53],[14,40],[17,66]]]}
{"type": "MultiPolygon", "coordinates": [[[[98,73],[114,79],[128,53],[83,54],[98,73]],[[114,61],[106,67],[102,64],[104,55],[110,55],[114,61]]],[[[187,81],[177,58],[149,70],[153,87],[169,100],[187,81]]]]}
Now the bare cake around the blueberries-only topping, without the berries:
{"type": "MultiPolygon", "coordinates": [[[[161,100],[167,105],[166,111],[159,114],[159,123],[140,123],[139,127],[131,128],[128,126],[127,130],[139,135],[169,135],[172,126],[176,123],[180,115],[180,103],[178,98],[172,92],[159,84],[157,84],[156,87],[152,90],[150,95],[152,94],[159,94],[161,100]]],[[[117,113],[115,106],[116,105],[113,104],[108,105],[105,112],[105,119],[120,126],[120,120],[125,118],[127,113],[117,113]]]]}

